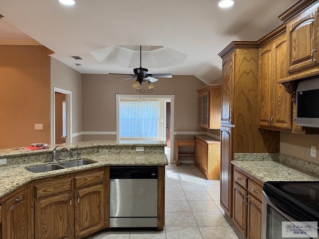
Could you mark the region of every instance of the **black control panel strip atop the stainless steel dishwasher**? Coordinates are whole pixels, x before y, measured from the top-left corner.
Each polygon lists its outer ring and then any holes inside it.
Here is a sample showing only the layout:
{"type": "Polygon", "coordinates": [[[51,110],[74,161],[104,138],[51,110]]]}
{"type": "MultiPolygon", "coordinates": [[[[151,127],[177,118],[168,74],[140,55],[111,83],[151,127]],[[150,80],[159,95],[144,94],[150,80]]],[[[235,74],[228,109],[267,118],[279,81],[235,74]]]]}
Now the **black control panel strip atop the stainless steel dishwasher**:
{"type": "Polygon", "coordinates": [[[111,166],[110,179],[157,179],[157,166],[111,166]]]}

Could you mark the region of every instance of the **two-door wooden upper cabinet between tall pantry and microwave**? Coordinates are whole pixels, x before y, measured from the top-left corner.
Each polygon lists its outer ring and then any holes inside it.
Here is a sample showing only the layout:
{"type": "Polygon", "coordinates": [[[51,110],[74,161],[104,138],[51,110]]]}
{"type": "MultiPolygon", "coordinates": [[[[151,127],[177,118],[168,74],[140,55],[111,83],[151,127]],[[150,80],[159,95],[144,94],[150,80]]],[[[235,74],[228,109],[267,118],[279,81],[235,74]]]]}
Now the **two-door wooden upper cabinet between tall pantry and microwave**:
{"type": "MultiPolygon", "coordinates": [[[[259,127],[271,130],[292,129],[291,95],[277,81],[287,76],[286,26],[270,34],[280,35],[259,50],[259,127]],[[277,32],[276,32],[277,31],[277,32]]],[[[265,37],[266,39],[267,36],[265,37]]]]}

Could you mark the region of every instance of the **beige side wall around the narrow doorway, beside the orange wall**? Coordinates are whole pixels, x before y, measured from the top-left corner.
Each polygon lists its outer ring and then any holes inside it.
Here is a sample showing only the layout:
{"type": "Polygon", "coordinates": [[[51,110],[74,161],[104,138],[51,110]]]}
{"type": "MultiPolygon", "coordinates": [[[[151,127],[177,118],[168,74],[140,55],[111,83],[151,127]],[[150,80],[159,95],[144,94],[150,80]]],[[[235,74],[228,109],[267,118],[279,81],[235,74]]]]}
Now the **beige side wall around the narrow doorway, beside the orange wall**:
{"type": "MultiPolygon", "coordinates": [[[[53,102],[53,87],[72,92],[72,133],[82,131],[82,84],[81,73],[67,65],[51,58],[51,102],[53,102]]],[[[53,103],[51,104],[52,107],[53,103]]],[[[53,109],[51,109],[53,116],[53,109]]],[[[51,135],[51,140],[52,135],[51,135]]],[[[82,141],[82,136],[73,136],[72,142],[82,141]]]]}

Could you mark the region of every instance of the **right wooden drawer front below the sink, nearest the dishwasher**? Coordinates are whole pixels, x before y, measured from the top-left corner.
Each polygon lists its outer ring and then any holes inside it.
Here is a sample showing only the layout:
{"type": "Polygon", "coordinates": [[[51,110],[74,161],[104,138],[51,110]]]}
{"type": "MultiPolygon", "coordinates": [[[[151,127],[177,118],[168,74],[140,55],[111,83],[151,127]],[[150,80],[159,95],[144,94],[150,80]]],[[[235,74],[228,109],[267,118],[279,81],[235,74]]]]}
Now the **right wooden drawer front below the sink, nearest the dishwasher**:
{"type": "Polygon", "coordinates": [[[75,176],[74,188],[89,186],[96,183],[104,182],[104,170],[94,170],[80,173],[75,176]]]}

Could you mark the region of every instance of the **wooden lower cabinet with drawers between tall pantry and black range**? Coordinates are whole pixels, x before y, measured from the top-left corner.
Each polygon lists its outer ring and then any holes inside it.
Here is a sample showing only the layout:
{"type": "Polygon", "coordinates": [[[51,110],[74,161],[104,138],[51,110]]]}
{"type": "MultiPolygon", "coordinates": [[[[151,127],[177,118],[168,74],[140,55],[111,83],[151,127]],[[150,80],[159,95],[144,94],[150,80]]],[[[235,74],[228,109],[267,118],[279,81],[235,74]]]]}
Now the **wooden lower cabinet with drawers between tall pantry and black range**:
{"type": "Polygon", "coordinates": [[[236,166],[234,166],[233,175],[232,221],[244,238],[261,239],[263,183],[236,166]],[[238,181],[243,183],[237,183],[238,181]]]}

